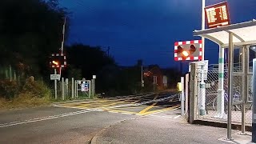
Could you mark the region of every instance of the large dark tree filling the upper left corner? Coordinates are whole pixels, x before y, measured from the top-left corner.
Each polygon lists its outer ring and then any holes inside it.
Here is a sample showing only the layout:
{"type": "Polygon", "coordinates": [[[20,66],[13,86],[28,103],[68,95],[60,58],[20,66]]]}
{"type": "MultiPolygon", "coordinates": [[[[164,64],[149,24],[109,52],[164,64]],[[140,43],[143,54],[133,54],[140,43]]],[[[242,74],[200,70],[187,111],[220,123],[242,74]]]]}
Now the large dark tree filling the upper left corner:
{"type": "Polygon", "coordinates": [[[48,77],[48,57],[61,46],[66,16],[57,0],[1,0],[0,65],[12,65],[20,74],[48,77]]]}

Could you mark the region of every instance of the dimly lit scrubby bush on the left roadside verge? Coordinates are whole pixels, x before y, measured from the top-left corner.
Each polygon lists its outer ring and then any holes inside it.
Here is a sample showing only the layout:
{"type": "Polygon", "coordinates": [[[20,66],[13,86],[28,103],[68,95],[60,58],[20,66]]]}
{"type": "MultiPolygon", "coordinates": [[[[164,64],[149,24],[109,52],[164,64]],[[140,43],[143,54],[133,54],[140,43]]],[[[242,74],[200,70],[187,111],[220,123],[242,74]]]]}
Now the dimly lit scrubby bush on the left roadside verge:
{"type": "Polygon", "coordinates": [[[50,103],[51,91],[33,77],[19,85],[9,80],[0,81],[0,109],[42,106],[50,103]]]}

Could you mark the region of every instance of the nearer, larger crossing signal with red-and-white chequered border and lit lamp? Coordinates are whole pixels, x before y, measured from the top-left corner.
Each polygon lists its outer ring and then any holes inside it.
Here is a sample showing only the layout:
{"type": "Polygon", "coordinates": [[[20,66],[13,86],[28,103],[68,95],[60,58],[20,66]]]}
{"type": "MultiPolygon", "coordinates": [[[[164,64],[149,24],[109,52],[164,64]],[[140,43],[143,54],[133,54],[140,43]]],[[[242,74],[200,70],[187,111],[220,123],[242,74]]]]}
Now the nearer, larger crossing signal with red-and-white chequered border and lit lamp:
{"type": "Polygon", "coordinates": [[[202,60],[202,40],[175,42],[174,60],[202,60]]]}

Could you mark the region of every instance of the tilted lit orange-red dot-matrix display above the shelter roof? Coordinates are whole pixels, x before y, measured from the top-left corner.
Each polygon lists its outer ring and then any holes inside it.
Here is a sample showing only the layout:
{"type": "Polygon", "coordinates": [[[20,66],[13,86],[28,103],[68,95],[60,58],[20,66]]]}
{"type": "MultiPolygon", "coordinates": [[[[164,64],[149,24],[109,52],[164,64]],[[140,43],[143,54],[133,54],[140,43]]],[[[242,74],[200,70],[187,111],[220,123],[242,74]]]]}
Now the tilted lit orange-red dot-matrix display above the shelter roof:
{"type": "Polygon", "coordinates": [[[210,28],[230,25],[227,2],[205,7],[207,25],[210,28]]]}

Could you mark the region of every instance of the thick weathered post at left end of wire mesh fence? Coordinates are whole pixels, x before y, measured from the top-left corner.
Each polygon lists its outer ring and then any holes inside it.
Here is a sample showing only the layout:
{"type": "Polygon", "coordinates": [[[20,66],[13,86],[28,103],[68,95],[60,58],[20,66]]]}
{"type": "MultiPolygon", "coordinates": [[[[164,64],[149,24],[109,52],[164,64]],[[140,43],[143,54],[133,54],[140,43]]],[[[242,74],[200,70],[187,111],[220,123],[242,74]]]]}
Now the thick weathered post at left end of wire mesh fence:
{"type": "Polygon", "coordinates": [[[191,63],[190,72],[190,123],[193,123],[198,110],[198,74],[197,63],[191,63]]]}

